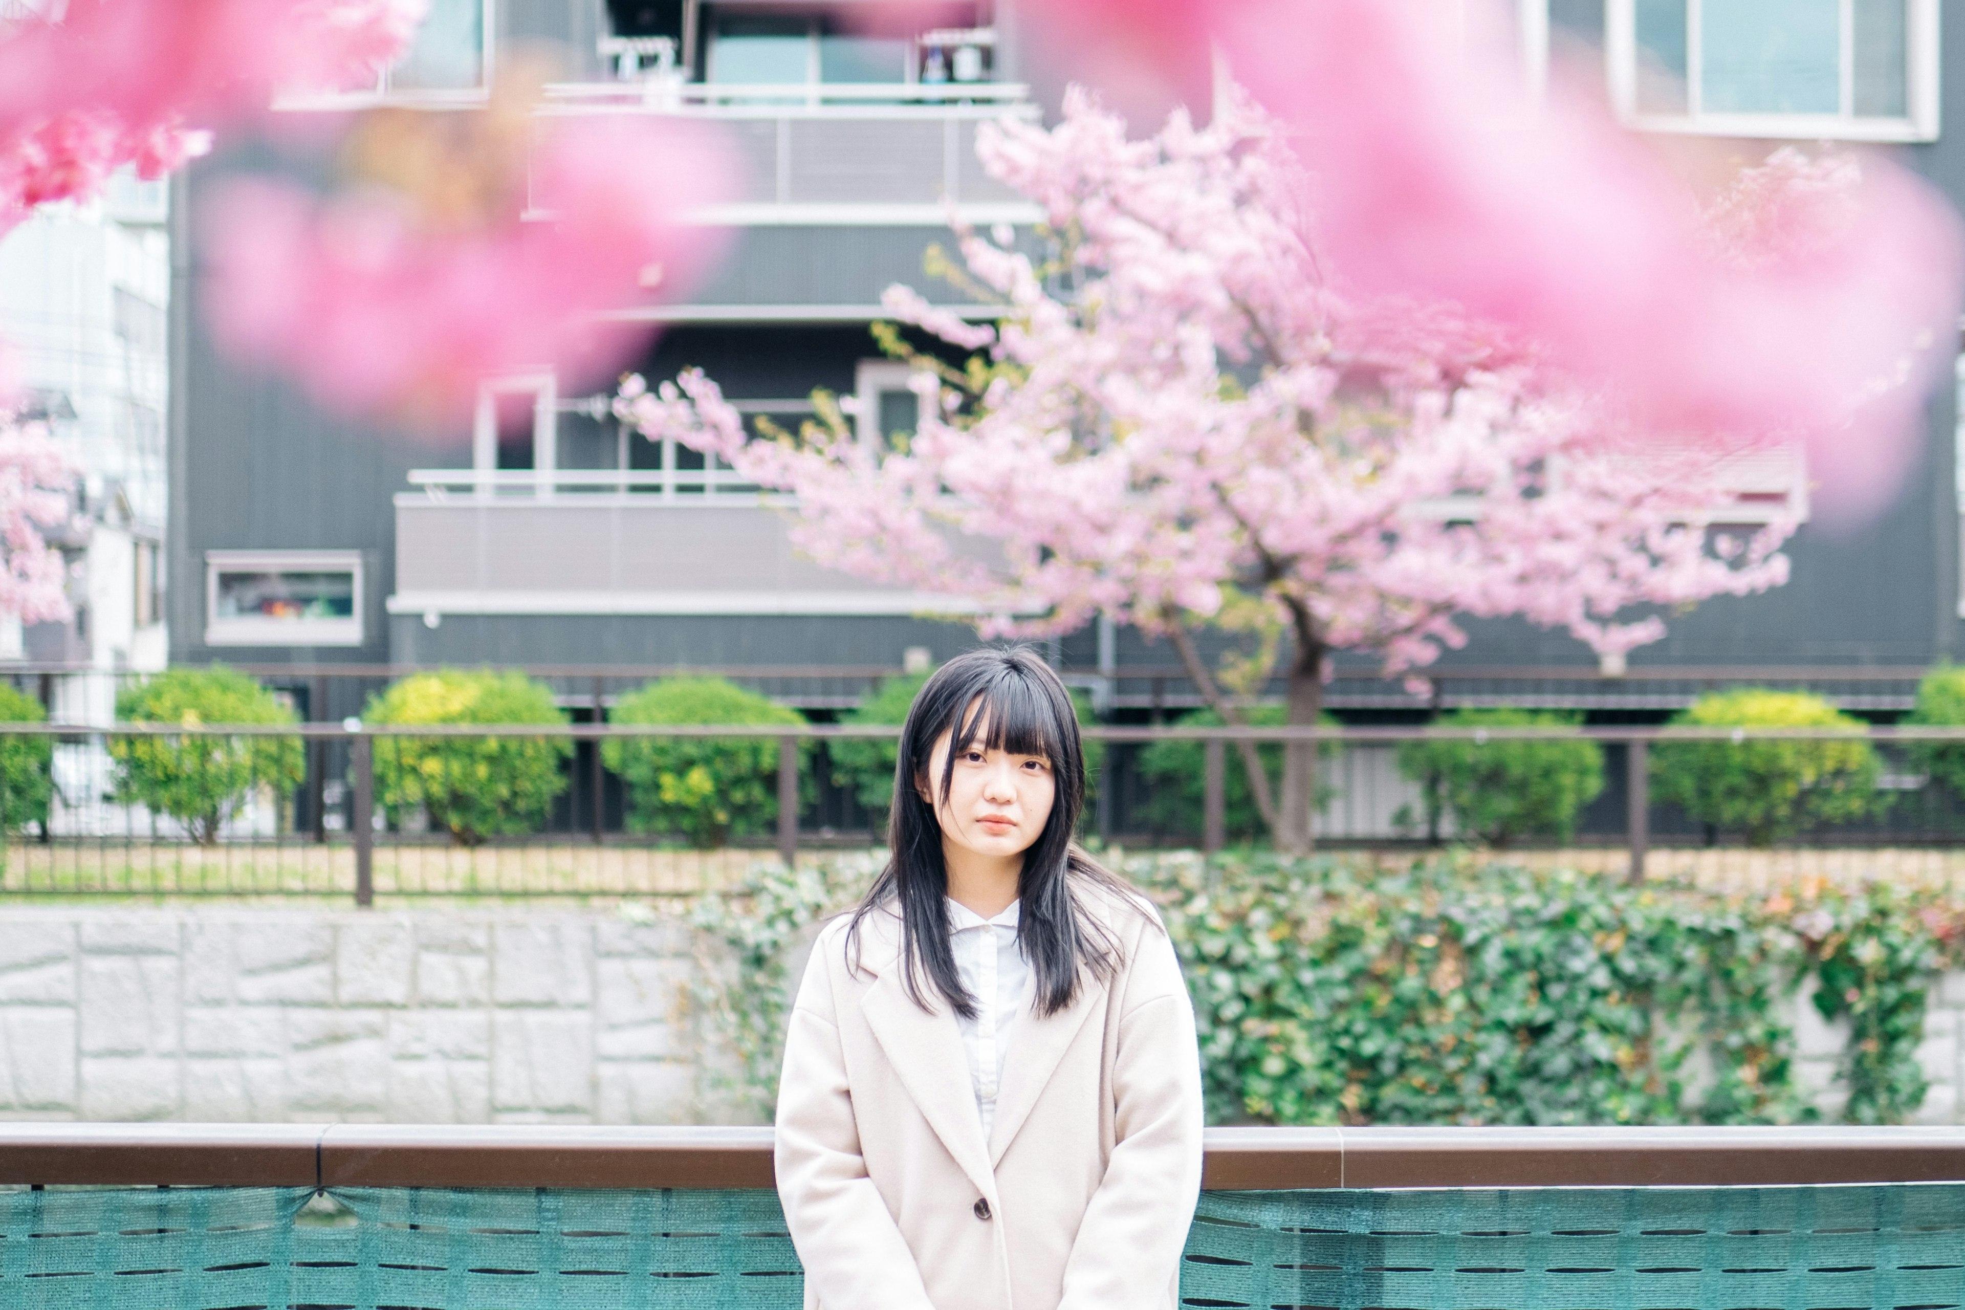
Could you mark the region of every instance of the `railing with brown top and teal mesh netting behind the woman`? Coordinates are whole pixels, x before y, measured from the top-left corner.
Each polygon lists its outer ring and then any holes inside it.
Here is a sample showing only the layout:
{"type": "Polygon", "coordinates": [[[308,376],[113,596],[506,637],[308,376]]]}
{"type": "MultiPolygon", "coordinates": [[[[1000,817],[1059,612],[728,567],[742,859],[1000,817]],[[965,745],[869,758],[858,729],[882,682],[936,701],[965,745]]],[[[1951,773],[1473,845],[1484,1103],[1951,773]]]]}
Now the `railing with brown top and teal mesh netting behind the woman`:
{"type": "MultiPolygon", "coordinates": [[[[0,1300],[790,1310],[804,1277],[770,1143],[8,1123],[0,1300]]],[[[1328,1310],[1955,1310],[1961,1180],[1965,1129],[1212,1129],[1179,1290],[1328,1310]]]]}

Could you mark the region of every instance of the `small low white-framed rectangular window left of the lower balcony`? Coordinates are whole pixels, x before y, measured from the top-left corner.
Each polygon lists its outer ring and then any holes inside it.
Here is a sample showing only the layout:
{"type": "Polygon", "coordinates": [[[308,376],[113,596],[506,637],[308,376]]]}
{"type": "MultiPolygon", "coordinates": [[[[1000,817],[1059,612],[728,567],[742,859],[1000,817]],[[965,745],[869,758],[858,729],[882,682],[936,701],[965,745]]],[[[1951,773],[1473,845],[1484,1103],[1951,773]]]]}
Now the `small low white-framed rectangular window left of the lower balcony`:
{"type": "Polygon", "coordinates": [[[206,552],[204,642],[208,646],[360,646],[360,552],[206,552]]]}

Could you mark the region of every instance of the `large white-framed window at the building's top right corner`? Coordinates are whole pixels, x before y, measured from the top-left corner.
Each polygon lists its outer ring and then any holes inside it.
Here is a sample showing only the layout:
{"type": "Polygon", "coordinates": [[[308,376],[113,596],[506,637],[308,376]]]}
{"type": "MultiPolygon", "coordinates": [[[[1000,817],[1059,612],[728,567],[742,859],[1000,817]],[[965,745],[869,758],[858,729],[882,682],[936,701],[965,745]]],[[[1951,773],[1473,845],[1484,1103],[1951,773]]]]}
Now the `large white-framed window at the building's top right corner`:
{"type": "Polygon", "coordinates": [[[1937,0],[1611,0],[1607,41],[1641,128],[1937,137],[1937,0]]]}

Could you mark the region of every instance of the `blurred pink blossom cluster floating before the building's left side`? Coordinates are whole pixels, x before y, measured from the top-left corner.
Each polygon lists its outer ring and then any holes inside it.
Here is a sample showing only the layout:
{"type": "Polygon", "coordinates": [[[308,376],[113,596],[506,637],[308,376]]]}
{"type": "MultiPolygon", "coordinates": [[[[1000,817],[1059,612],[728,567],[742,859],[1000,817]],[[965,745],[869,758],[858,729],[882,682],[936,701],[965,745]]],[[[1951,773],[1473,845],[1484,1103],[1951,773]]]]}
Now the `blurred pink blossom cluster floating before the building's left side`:
{"type": "Polygon", "coordinates": [[[531,185],[550,214],[495,191],[452,212],[395,187],[318,200],[228,183],[198,234],[212,332],[334,409],[421,424],[458,420],[499,373],[605,375],[646,330],[595,314],[688,293],[721,246],[684,218],[733,191],[721,137],[686,120],[556,120],[531,185]]]}

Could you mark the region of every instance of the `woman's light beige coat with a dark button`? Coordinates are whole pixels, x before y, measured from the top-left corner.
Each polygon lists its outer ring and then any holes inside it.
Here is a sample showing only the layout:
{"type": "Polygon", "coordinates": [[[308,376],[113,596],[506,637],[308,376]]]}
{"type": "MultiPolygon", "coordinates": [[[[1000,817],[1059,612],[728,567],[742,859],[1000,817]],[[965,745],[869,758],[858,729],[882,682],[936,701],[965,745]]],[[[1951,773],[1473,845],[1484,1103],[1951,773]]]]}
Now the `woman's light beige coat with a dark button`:
{"type": "Polygon", "coordinates": [[[1157,917],[1108,892],[1081,903],[1126,962],[1018,1021],[986,1143],[953,1011],[902,990],[900,919],[865,919],[857,972],[847,919],[819,935],[776,1147],[808,1310],[1177,1304],[1201,1192],[1193,1006],[1157,917]]]}

